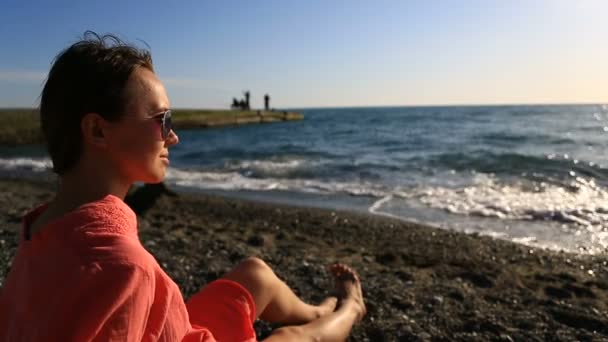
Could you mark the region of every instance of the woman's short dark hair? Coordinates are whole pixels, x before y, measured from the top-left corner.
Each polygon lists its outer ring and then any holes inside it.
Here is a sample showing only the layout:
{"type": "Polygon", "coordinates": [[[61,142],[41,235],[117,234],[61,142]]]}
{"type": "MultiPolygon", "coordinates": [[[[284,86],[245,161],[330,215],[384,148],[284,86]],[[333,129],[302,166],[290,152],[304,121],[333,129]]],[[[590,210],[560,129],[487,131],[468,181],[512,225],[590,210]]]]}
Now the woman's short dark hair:
{"type": "Polygon", "coordinates": [[[154,71],[149,51],[91,31],[57,55],[40,99],[42,133],[55,173],[64,174],[80,159],[85,114],[121,117],[128,104],[125,85],[138,67],[154,71]]]}

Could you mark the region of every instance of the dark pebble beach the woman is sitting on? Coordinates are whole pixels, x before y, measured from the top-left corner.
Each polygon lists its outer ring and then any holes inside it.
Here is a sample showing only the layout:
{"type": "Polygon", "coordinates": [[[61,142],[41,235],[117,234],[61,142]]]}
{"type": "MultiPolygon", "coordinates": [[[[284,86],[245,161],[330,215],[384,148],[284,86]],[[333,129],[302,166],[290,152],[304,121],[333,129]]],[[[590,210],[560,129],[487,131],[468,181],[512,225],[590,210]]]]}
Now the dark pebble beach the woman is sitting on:
{"type": "MultiPolygon", "coordinates": [[[[0,276],[21,217],[53,185],[0,181],[0,276]]],[[[332,292],[326,266],[362,279],[368,314],[352,341],[608,340],[604,256],[547,251],[362,213],[205,194],[149,198],[140,239],[184,298],[249,256],[264,259],[305,300],[332,292]]],[[[258,337],[272,326],[256,323],[258,337]]]]}

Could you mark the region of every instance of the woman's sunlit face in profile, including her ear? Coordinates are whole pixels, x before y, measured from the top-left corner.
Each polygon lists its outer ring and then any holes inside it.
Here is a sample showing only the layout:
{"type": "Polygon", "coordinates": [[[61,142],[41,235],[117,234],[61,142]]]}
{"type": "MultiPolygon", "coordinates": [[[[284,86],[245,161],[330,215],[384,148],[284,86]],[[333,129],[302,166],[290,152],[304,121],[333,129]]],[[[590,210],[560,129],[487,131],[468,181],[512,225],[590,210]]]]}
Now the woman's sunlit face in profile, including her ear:
{"type": "Polygon", "coordinates": [[[169,147],[178,143],[175,132],[163,139],[158,114],[169,109],[165,87],[154,73],[137,68],[125,87],[127,106],[109,132],[109,155],[127,182],[161,182],[169,166],[169,147]]]}

